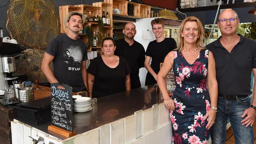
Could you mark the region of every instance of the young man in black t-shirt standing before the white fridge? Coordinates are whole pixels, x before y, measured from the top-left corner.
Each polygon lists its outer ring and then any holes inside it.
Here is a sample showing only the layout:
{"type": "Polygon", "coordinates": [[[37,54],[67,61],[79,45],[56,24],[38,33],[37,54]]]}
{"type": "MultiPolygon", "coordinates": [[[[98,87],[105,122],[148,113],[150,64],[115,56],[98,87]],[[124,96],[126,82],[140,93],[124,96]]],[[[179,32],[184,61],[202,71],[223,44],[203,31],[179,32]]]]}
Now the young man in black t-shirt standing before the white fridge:
{"type": "Polygon", "coordinates": [[[148,70],[148,73],[146,76],[145,85],[157,83],[156,79],[160,70],[160,63],[163,63],[165,56],[169,52],[177,48],[177,44],[173,38],[164,37],[163,33],[165,28],[161,18],[155,18],[152,20],[151,26],[156,40],[150,42],[146,50],[144,66],[148,70]],[[151,65],[149,65],[151,58],[151,65]]]}

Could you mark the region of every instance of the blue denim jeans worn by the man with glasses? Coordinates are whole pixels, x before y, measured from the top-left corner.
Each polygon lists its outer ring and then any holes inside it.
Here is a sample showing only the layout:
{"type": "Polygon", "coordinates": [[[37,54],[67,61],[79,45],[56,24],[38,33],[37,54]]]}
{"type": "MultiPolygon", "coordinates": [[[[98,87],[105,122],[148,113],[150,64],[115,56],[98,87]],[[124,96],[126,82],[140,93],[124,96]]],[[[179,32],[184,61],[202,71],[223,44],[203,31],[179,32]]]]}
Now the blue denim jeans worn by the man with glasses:
{"type": "Polygon", "coordinates": [[[218,97],[215,124],[211,127],[212,144],[225,144],[226,124],[230,120],[236,144],[253,144],[253,126],[242,126],[241,115],[250,107],[249,96],[228,100],[218,97]]]}

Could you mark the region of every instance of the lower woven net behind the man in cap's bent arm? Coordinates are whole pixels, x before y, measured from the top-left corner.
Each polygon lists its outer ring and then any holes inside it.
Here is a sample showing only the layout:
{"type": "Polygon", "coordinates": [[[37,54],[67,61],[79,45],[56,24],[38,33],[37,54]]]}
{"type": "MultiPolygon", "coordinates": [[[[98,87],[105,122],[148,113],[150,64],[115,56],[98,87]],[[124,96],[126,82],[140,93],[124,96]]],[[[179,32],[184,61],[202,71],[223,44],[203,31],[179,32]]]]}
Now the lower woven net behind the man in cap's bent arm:
{"type": "MultiPolygon", "coordinates": [[[[41,70],[44,53],[44,50],[36,48],[24,51],[17,61],[17,72],[27,74],[30,81],[48,82],[41,70]]],[[[53,70],[53,63],[50,64],[50,68],[53,70]]]]}

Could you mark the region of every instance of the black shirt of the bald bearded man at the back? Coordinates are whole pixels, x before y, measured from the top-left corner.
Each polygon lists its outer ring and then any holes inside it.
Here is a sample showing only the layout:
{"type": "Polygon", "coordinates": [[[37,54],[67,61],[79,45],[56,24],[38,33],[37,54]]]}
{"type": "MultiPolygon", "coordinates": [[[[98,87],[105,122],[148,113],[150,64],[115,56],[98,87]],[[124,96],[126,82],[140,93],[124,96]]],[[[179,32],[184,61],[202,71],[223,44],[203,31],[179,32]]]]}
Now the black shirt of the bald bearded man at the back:
{"type": "Polygon", "coordinates": [[[137,41],[134,41],[134,43],[129,46],[128,42],[124,39],[119,39],[115,41],[115,43],[117,46],[115,49],[115,55],[124,57],[130,66],[131,89],[141,87],[141,82],[139,81],[139,68],[144,67],[144,47],[137,41]]]}

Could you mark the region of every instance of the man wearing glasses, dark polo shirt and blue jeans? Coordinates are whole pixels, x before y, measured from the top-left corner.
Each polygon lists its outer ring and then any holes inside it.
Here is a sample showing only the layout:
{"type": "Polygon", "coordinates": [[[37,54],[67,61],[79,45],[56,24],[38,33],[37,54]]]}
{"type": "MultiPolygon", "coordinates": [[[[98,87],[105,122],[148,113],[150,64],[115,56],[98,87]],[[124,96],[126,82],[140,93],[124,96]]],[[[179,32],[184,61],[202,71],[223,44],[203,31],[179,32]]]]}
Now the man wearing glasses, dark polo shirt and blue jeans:
{"type": "Polygon", "coordinates": [[[256,76],[256,41],[237,34],[239,18],[226,9],[219,15],[221,37],[207,45],[215,57],[218,103],[215,124],[211,127],[212,144],[225,144],[226,124],[230,120],[236,144],[253,144],[256,116],[256,84],[250,103],[250,77],[256,76]]]}

